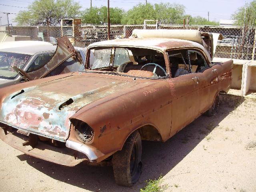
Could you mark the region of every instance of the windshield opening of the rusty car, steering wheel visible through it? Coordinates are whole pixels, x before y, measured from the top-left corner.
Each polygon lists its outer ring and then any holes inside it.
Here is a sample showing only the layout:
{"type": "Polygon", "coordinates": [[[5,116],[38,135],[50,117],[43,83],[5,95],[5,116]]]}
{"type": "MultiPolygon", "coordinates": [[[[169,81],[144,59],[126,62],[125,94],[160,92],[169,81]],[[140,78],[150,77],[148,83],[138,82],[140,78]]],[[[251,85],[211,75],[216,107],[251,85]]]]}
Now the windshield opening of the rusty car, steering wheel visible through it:
{"type": "Polygon", "coordinates": [[[146,48],[92,48],[89,63],[89,68],[94,70],[92,72],[104,71],[102,73],[141,78],[164,78],[168,75],[164,54],[146,48]]]}

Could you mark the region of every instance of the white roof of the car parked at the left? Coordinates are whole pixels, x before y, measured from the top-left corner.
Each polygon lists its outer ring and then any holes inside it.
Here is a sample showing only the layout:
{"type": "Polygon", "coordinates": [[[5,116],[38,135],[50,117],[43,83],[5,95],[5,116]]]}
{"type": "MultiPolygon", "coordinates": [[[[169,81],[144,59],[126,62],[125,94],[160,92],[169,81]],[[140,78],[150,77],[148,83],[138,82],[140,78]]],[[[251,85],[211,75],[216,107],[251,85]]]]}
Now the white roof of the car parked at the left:
{"type": "Polygon", "coordinates": [[[10,52],[10,53],[21,53],[34,55],[36,53],[45,52],[45,51],[55,51],[57,46],[48,45],[48,46],[20,46],[12,48],[0,49],[0,52],[10,52]]]}

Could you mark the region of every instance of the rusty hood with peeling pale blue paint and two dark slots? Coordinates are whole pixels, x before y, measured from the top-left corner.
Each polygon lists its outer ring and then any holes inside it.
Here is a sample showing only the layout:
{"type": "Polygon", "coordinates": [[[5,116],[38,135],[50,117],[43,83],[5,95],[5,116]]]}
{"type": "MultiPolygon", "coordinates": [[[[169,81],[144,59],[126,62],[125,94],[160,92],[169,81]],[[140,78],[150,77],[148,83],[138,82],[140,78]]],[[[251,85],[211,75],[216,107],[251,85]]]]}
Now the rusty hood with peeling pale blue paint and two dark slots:
{"type": "Polygon", "coordinates": [[[0,122],[14,128],[66,141],[69,118],[80,108],[138,82],[73,75],[13,92],[0,111],[0,122]]]}

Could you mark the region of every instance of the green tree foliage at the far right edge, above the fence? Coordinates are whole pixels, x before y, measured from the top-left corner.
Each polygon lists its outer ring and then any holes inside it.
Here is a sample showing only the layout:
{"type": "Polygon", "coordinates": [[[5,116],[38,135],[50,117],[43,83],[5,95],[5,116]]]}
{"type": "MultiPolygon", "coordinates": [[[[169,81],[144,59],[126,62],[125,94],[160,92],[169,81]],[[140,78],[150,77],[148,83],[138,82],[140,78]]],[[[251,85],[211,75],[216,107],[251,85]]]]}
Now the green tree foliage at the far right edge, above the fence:
{"type": "Polygon", "coordinates": [[[256,26],[256,0],[250,2],[248,6],[238,8],[232,18],[237,20],[237,25],[256,26]]]}

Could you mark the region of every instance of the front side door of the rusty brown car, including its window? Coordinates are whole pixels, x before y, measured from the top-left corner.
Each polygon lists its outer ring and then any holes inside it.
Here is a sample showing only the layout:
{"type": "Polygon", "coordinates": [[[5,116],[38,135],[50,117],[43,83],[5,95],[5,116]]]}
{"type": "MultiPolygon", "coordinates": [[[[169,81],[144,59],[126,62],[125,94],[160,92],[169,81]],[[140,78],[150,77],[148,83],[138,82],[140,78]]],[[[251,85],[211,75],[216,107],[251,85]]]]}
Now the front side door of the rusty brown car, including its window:
{"type": "Polygon", "coordinates": [[[168,81],[172,96],[171,137],[200,115],[200,89],[198,83],[200,80],[188,68],[189,63],[186,49],[170,51],[167,54],[172,74],[172,78],[168,81]],[[184,70],[183,73],[182,70],[184,70]]]}

